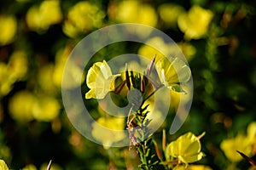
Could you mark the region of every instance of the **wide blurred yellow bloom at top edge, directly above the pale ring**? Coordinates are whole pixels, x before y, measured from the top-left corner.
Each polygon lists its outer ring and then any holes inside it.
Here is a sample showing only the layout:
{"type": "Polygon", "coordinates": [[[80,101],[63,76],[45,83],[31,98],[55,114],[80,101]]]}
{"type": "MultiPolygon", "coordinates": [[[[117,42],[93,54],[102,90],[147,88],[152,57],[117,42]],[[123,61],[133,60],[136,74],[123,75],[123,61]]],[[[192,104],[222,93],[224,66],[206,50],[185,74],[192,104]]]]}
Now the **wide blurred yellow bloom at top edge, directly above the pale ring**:
{"type": "Polygon", "coordinates": [[[114,14],[115,20],[126,23],[137,23],[156,26],[157,14],[154,8],[135,0],[121,1],[114,14]]]}

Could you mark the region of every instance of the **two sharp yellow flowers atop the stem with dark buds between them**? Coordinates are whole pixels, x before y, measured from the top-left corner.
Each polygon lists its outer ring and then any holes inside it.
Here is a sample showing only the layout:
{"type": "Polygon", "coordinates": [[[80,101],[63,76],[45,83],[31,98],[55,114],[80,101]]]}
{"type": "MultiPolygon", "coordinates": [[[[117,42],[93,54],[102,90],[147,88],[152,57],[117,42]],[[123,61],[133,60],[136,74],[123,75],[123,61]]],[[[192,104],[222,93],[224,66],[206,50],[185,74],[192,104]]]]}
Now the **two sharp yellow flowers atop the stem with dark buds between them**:
{"type": "MultiPolygon", "coordinates": [[[[125,82],[127,88],[137,88],[142,93],[147,93],[145,87],[148,84],[148,77],[153,68],[158,73],[160,83],[153,82],[154,88],[160,88],[165,86],[174,91],[179,91],[180,84],[184,82],[189,82],[191,77],[191,71],[189,66],[179,58],[170,59],[162,57],[154,65],[154,60],[148,65],[145,75],[138,74],[137,76],[133,74],[133,71],[125,72],[125,77],[122,77],[121,74],[113,75],[108,63],[103,60],[102,62],[96,62],[92,65],[87,73],[86,84],[90,88],[90,91],[85,94],[85,99],[103,99],[109,92],[119,93],[116,91],[119,88],[124,88],[123,82],[125,82]],[[131,73],[131,75],[130,75],[131,73]],[[115,80],[117,78],[124,78],[119,85],[121,87],[115,86],[115,80]],[[143,77],[135,80],[136,77],[143,77]],[[139,82],[139,85],[135,81],[139,82]],[[157,84],[158,83],[158,84],[157,84]],[[178,88],[177,88],[178,86],[178,88]]],[[[151,82],[152,83],[152,82],[151,82]]],[[[120,91],[121,89],[119,89],[120,91]]]]}

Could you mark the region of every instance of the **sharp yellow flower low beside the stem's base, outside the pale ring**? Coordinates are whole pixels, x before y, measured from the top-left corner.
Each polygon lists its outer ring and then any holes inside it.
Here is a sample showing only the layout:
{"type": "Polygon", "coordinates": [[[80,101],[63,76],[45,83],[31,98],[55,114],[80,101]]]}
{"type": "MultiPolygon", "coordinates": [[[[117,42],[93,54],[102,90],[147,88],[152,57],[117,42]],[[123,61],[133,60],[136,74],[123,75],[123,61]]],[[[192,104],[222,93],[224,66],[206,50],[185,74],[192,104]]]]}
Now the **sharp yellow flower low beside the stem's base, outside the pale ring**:
{"type": "Polygon", "coordinates": [[[177,158],[185,164],[200,161],[204,154],[201,152],[200,140],[193,133],[185,133],[177,140],[168,144],[166,158],[177,158]]]}

